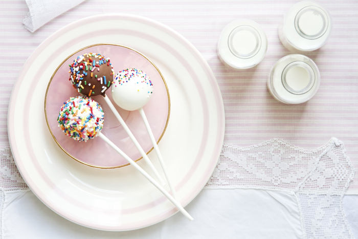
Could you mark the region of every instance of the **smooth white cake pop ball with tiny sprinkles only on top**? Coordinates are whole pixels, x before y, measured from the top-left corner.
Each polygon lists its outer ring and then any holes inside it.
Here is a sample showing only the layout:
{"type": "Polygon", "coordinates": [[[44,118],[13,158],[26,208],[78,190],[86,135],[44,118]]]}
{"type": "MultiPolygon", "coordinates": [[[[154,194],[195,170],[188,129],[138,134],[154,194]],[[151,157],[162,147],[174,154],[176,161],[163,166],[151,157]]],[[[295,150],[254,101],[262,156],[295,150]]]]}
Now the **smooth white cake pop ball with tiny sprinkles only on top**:
{"type": "Polygon", "coordinates": [[[120,71],[113,80],[113,100],[124,110],[138,110],[148,103],[152,94],[153,84],[141,70],[130,68],[120,71]]]}

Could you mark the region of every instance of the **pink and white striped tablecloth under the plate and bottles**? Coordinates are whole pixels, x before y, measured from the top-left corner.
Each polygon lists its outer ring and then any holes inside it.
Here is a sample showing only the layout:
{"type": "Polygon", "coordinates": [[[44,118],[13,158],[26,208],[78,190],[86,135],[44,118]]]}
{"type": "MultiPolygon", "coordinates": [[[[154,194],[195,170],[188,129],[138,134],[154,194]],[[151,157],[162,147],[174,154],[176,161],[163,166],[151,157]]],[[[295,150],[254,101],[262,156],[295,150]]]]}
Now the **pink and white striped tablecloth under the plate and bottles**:
{"type": "MultiPolygon", "coordinates": [[[[358,168],[358,2],[319,1],[330,12],[333,31],[327,44],[307,54],[321,72],[317,95],[299,105],[277,102],[266,88],[271,67],[290,54],[277,33],[283,14],[298,1],[94,1],[53,19],[35,33],[25,30],[25,1],[0,1],[0,147],[8,146],[7,113],[16,77],[37,46],[61,27],[102,13],[146,16],[186,37],[209,62],[221,89],[226,112],[225,142],[240,146],[281,138],[313,149],[331,137],[342,140],[358,168]],[[264,29],[269,47],[255,68],[234,72],[221,64],[216,45],[223,27],[235,19],[248,18],[264,29]]],[[[358,194],[358,173],[348,194],[358,194]]]]}

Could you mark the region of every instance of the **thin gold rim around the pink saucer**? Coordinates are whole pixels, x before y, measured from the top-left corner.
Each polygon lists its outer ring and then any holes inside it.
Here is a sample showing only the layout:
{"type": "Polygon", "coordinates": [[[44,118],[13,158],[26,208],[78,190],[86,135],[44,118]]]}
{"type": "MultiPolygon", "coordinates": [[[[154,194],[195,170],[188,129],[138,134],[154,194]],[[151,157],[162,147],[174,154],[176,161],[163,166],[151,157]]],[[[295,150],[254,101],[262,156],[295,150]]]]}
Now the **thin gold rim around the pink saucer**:
{"type": "MultiPolygon", "coordinates": [[[[49,88],[50,88],[50,85],[51,85],[51,82],[52,82],[52,79],[53,77],[55,76],[55,74],[57,73],[58,69],[62,66],[62,64],[68,60],[70,57],[73,57],[76,53],[82,51],[82,50],[85,50],[87,48],[90,48],[90,47],[96,47],[96,46],[118,46],[118,47],[124,47],[124,48],[127,48],[131,51],[134,51],[138,54],[140,54],[141,56],[143,56],[144,58],[146,58],[152,65],[153,67],[156,69],[156,71],[158,71],[158,73],[160,74],[160,76],[162,77],[162,80],[164,82],[164,85],[165,85],[165,88],[167,90],[167,94],[168,94],[168,117],[167,117],[167,122],[165,123],[165,127],[164,127],[164,130],[163,130],[163,133],[161,135],[161,137],[159,137],[158,141],[156,142],[157,144],[161,141],[166,129],[167,129],[167,126],[168,126],[168,122],[169,122],[169,116],[170,116],[170,95],[169,95],[169,90],[168,90],[168,86],[167,86],[167,82],[165,81],[161,71],[155,66],[155,64],[148,58],[146,57],[145,55],[143,55],[142,53],[140,53],[139,51],[135,50],[135,49],[132,49],[130,47],[126,47],[126,46],[123,46],[123,45],[118,45],[118,44],[107,44],[107,43],[102,43],[102,44],[94,44],[94,45],[90,45],[90,46],[87,46],[87,47],[84,47],[84,48],[81,48],[80,50],[74,52],[73,54],[71,54],[69,57],[67,57],[66,59],[64,59],[61,64],[59,64],[59,66],[57,67],[57,69],[55,70],[55,72],[53,73],[53,75],[51,76],[51,79],[49,81],[49,84],[47,86],[47,89],[46,89],[46,95],[45,95],[45,99],[44,99],[44,113],[45,113],[45,118],[46,118],[46,123],[47,123],[47,126],[49,128],[49,131],[50,131],[50,134],[52,136],[52,138],[55,140],[55,142],[57,143],[57,145],[64,151],[64,153],[66,153],[66,155],[70,156],[71,158],[73,158],[74,160],[76,160],[77,162],[79,163],[82,163],[84,165],[87,165],[87,166],[90,166],[90,167],[95,167],[95,168],[103,168],[103,169],[110,169],[110,168],[120,168],[120,167],[124,167],[124,166],[127,166],[129,165],[129,163],[127,164],[124,164],[124,165],[120,165],[120,166],[115,166],[115,167],[101,167],[101,166],[96,166],[96,165],[92,165],[92,164],[88,164],[88,163],[85,163],[85,162],[82,162],[81,160],[73,157],[68,151],[66,151],[62,146],[61,144],[57,141],[56,137],[54,136],[54,134],[52,133],[52,130],[51,130],[51,127],[50,127],[50,124],[49,124],[49,119],[47,117],[47,108],[46,108],[46,103],[47,103],[47,94],[49,92],[49,88]]],[[[152,150],[153,150],[154,147],[152,147],[146,154],[149,154],[152,150]]],[[[143,157],[140,157],[136,160],[134,160],[135,162],[137,162],[138,160],[141,160],[143,157]]]]}

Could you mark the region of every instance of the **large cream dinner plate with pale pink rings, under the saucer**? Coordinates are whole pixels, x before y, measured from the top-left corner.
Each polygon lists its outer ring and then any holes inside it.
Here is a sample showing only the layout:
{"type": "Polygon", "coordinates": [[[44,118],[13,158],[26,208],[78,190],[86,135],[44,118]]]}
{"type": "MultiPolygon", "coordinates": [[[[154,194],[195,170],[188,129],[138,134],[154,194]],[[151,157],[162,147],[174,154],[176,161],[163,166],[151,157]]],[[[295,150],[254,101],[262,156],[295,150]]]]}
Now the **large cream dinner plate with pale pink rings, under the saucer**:
{"type": "MultiPolygon", "coordinates": [[[[183,206],[203,189],[215,168],[225,115],[205,59],[183,36],[148,18],[84,18],[52,34],[29,57],[14,86],[8,117],[21,175],[44,204],[72,222],[100,230],[133,230],[161,222],[177,209],[131,166],[99,169],[70,158],[52,139],[44,117],[47,85],[59,64],[83,47],[102,43],[143,53],[167,82],[171,113],[159,148],[183,206]]],[[[148,156],[160,168],[155,152],[148,156]]],[[[143,160],[138,164],[151,173],[143,160]]]]}

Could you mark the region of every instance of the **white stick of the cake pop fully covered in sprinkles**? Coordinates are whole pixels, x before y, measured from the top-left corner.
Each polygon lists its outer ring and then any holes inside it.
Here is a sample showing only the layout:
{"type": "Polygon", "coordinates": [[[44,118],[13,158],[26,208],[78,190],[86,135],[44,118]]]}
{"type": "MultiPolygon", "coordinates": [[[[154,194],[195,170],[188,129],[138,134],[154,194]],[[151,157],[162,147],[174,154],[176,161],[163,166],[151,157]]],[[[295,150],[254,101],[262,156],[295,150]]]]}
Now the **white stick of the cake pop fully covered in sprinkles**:
{"type": "Polygon", "coordinates": [[[135,161],[131,160],[123,151],[117,147],[113,142],[111,142],[107,137],[105,137],[101,132],[97,133],[97,135],[103,139],[109,146],[113,147],[123,158],[125,158],[128,163],[130,163],[133,167],[135,167],[142,175],[151,182],[156,188],[158,188],[164,195],[169,199],[170,202],[174,204],[177,209],[179,209],[190,221],[193,220],[192,216],[182,207],[178,201],[176,201],[159,183],[157,183],[152,177],[148,175],[146,171],[143,170],[135,161]]]}

